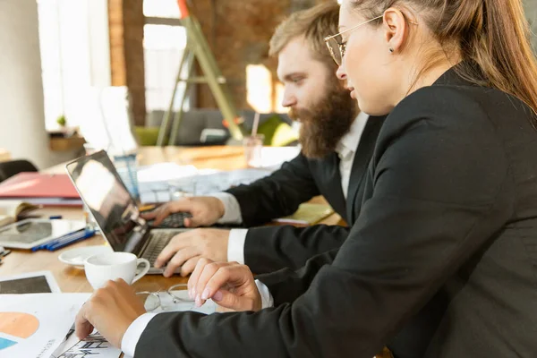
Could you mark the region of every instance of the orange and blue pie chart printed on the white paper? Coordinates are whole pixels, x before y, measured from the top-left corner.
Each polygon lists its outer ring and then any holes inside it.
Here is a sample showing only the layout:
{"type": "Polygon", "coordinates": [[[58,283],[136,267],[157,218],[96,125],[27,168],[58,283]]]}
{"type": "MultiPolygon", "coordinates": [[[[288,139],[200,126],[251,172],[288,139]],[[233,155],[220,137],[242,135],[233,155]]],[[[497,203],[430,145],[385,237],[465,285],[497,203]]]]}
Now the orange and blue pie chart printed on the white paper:
{"type": "Polygon", "coordinates": [[[0,351],[31,337],[39,320],[30,313],[0,312],[0,351]]]}

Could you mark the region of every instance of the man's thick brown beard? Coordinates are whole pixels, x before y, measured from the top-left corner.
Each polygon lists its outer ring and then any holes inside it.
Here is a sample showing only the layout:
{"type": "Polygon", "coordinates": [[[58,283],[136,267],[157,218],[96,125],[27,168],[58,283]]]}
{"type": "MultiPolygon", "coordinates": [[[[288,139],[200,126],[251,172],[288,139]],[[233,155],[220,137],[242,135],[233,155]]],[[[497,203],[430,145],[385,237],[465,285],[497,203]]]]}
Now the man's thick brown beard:
{"type": "Polygon", "coordinates": [[[302,123],[299,142],[307,158],[324,158],[334,151],[337,143],[349,132],[357,115],[356,101],[349,91],[333,82],[328,94],[309,109],[291,108],[289,116],[302,123]]]}

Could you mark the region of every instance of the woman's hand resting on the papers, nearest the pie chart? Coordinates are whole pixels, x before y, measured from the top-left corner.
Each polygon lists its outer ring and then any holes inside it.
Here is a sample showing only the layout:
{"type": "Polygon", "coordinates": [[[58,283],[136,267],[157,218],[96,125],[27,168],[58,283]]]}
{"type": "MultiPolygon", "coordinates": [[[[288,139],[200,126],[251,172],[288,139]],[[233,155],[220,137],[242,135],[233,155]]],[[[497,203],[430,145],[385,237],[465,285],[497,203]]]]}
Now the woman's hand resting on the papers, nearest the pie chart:
{"type": "Polygon", "coordinates": [[[84,339],[96,328],[108,342],[121,348],[127,328],[145,312],[140,298],[123,279],[108,281],[78,312],[74,321],[76,336],[84,339]]]}

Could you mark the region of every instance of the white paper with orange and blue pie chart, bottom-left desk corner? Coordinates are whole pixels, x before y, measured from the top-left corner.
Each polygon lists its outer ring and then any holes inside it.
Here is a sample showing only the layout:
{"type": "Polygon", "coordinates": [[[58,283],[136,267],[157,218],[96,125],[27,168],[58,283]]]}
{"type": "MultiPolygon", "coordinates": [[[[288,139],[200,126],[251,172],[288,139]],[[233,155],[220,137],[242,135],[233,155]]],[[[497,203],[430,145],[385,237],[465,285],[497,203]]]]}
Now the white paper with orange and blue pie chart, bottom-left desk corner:
{"type": "Polygon", "coordinates": [[[0,294],[0,357],[49,358],[89,296],[0,294]]]}

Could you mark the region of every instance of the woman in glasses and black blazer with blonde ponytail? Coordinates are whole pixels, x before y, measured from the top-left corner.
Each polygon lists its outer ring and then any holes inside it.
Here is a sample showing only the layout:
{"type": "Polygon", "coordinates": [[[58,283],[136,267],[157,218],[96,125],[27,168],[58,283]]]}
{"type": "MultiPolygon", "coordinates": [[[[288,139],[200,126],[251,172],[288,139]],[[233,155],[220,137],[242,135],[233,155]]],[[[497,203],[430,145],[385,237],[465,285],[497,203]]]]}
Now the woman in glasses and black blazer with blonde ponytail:
{"type": "Polygon", "coordinates": [[[198,304],[255,313],[142,315],[111,282],[79,336],[93,325],[137,357],[535,355],[537,65],[522,4],[344,0],[340,29],[337,75],[365,112],[391,112],[341,249],[259,289],[244,266],[200,260],[198,304]]]}

